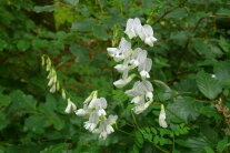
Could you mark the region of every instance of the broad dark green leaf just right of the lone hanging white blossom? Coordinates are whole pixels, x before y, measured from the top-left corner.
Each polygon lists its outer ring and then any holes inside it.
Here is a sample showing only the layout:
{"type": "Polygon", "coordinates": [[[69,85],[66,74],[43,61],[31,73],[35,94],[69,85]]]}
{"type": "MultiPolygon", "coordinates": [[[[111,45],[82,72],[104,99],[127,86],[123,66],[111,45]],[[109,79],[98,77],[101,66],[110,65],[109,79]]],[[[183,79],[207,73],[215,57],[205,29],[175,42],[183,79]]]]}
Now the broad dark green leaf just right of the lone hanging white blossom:
{"type": "Polygon", "coordinates": [[[188,122],[190,119],[196,120],[197,116],[200,114],[199,110],[202,106],[202,103],[189,98],[177,98],[174,99],[173,103],[170,103],[167,105],[168,109],[168,118],[173,119],[173,118],[180,118],[183,121],[188,122]]]}

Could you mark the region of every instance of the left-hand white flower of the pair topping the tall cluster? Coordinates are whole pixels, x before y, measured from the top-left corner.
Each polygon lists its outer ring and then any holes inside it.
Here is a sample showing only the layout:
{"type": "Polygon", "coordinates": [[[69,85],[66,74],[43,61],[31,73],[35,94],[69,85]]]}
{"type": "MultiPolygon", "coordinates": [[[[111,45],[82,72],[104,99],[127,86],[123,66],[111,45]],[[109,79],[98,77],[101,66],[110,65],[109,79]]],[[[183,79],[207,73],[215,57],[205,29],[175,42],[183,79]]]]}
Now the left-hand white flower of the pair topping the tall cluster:
{"type": "Polygon", "coordinates": [[[129,19],[127,21],[127,28],[124,33],[129,37],[129,39],[132,39],[138,35],[138,30],[141,28],[140,19],[129,19]]]}

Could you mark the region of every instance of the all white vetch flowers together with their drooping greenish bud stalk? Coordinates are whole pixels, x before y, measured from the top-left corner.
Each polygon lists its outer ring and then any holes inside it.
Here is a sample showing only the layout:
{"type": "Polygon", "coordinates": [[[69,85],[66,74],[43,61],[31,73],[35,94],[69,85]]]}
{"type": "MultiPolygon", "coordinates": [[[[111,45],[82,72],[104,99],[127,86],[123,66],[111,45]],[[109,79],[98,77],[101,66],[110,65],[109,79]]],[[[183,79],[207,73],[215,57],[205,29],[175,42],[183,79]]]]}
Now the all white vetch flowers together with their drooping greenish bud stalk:
{"type": "MultiPolygon", "coordinates": [[[[149,24],[142,26],[138,18],[129,19],[127,21],[124,33],[130,40],[139,37],[141,41],[150,47],[153,47],[154,41],[157,41],[153,37],[152,28],[149,24]]],[[[149,72],[152,67],[152,60],[148,58],[148,51],[141,48],[132,50],[131,42],[127,41],[124,38],[121,38],[118,48],[107,48],[107,51],[116,62],[119,62],[114,69],[121,73],[121,78],[113,82],[116,88],[121,89],[130,83],[136,76],[140,75],[140,80],[133,83],[133,88],[127,90],[124,93],[132,98],[131,103],[134,104],[132,111],[136,114],[142,113],[153,102],[153,86],[148,80],[150,79],[149,72]],[[129,74],[134,69],[138,70],[139,74],[129,74]]],[[[50,58],[48,55],[42,55],[41,62],[42,67],[48,71],[47,78],[49,80],[48,86],[50,88],[50,92],[54,93],[60,91],[62,99],[68,103],[64,110],[66,113],[74,112],[78,116],[88,119],[88,121],[84,122],[84,129],[99,134],[99,137],[101,139],[107,139],[108,134],[114,132],[112,124],[116,123],[118,116],[108,116],[106,112],[108,105],[107,100],[104,98],[98,98],[98,91],[92,91],[84,100],[83,108],[77,110],[76,104],[69,96],[67,96],[66,89],[60,85],[60,81],[58,80],[57,72],[52,67],[50,58]]],[[[163,104],[161,104],[159,124],[162,128],[168,126],[163,104]]]]}

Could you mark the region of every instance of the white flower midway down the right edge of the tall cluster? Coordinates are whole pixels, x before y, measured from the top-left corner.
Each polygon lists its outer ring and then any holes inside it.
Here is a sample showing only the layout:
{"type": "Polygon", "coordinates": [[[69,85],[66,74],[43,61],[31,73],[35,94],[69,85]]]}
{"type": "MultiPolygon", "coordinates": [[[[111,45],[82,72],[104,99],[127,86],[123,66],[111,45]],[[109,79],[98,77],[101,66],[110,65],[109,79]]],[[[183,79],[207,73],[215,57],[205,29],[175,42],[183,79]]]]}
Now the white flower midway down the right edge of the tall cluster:
{"type": "Polygon", "coordinates": [[[138,67],[138,71],[140,72],[140,75],[142,79],[150,78],[149,71],[152,68],[152,60],[147,58],[138,67]]]}

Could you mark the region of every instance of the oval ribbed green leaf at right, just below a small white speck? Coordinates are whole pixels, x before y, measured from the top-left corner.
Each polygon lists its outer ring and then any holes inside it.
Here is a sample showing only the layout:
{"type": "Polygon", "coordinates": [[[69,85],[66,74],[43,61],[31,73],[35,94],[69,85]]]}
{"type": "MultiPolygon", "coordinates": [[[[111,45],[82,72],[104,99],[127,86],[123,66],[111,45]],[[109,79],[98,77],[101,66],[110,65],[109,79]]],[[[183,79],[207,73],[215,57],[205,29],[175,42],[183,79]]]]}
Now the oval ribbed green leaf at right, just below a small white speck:
{"type": "Polygon", "coordinates": [[[197,85],[200,92],[210,100],[213,100],[222,91],[222,85],[217,79],[211,78],[210,74],[200,71],[197,74],[197,85]]]}

